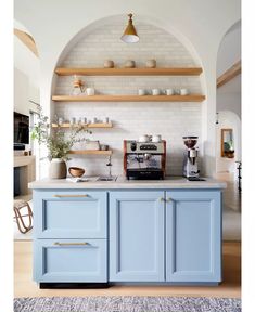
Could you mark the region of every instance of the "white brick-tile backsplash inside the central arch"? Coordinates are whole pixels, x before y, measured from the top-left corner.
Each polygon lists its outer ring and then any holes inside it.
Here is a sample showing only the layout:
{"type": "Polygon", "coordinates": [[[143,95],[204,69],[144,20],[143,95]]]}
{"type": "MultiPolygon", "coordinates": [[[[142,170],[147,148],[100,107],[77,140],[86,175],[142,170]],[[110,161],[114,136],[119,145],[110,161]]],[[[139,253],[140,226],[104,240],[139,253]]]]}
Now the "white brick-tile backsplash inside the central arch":
{"type": "MultiPolygon", "coordinates": [[[[137,67],[144,67],[146,60],[155,58],[158,67],[196,67],[200,61],[194,51],[186,47],[179,38],[155,26],[148,18],[138,17],[135,25],[140,37],[139,43],[126,44],[119,37],[125,27],[126,17],[111,16],[93,23],[82,29],[66,46],[58,66],[61,67],[103,67],[105,60],[113,60],[116,67],[123,67],[125,61],[135,60],[137,67]]],[[[87,87],[93,87],[98,94],[137,94],[138,89],[165,90],[167,88],[188,88],[191,93],[204,93],[203,76],[87,76],[82,77],[87,87]]],[[[71,76],[53,79],[53,94],[72,92],[71,76]]],[[[167,140],[167,173],[182,174],[184,145],[182,135],[199,135],[202,141],[201,103],[53,103],[53,115],[65,120],[87,117],[88,120],[109,117],[114,128],[109,131],[94,130],[92,140],[110,145],[113,151],[113,173],[123,172],[123,140],[138,139],[139,135],[162,134],[167,140]],[[111,131],[111,132],[110,132],[111,131]]],[[[82,144],[81,144],[82,145],[82,144]]],[[[77,148],[80,146],[77,146],[77,148]]],[[[82,147],[80,147],[82,150],[82,147]]],[[[202,152],[201,152],[201,156],[202,152]]],[[[105,160],[76,156],[72,164],[88,168],[88,174],[106,174],[105,160]],[[97,160],[97,162],[94,162],[97,160]],[[97,164],[97,167],[93,166],[97,164]]]]}

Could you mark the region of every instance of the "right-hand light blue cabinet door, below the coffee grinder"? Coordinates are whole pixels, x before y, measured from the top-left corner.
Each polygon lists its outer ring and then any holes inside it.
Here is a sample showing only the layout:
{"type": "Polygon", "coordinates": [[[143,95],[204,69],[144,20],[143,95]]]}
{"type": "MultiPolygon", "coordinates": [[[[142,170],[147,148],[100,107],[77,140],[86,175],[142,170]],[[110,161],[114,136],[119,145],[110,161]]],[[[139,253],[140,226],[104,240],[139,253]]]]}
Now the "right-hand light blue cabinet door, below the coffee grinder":
{"type": "Polygon", "coordinates": [[[166,193],[166,281],[221,281],[220,191],[166,193]]]}

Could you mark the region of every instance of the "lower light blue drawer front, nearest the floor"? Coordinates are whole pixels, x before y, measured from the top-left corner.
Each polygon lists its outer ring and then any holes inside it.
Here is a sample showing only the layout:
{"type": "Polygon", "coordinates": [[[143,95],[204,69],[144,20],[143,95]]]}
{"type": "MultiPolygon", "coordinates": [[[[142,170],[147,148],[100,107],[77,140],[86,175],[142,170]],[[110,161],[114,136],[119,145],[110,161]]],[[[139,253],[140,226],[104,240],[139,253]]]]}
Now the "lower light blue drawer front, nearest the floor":
{"type": "Polygon", "coordinates": [[[106,282],[106,239],[36,239],[34,280],[106,282]]]}

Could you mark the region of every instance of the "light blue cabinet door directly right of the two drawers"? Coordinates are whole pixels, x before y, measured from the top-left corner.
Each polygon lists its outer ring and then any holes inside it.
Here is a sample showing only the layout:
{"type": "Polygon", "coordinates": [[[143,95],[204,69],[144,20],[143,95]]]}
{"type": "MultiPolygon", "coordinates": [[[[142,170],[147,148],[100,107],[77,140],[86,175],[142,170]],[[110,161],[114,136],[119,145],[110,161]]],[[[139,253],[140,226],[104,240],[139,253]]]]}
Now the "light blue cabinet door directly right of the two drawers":
{"type": "Polygon", "coordinates": [[[110,281],[163,282],[164,192],[110,193],[110,281]]]}

